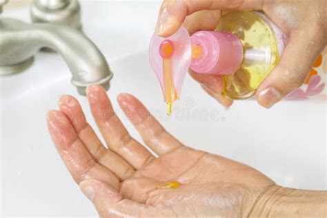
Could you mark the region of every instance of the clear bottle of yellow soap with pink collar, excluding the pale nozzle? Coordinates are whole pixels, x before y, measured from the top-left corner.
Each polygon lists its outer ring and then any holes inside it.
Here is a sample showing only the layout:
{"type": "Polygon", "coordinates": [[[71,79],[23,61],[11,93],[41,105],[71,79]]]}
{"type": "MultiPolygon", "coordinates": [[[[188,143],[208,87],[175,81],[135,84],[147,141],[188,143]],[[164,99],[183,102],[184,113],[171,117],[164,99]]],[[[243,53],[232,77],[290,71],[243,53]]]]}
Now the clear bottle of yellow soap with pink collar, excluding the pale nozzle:
{"type": "Polygon", "coordinates": [[[200,46],[202,54],[192,58],[190,68],[222,75],[223,93],[231,99],[251,97],[278,63],[288,41],[286,34],[261,12],[229,12],[215,31],[192,35],[192,46],[200,46]],[[215,64],[220,67],[210,68],[215,64]]]}

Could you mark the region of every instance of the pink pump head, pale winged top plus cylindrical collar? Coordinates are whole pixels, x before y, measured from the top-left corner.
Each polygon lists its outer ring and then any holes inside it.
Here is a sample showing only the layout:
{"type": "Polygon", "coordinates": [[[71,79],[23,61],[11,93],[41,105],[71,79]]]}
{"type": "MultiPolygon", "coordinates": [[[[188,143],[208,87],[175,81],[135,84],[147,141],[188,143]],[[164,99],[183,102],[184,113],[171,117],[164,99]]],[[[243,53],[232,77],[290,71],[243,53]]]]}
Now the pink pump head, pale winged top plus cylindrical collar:
{"type": "Polygon", "coordinates": [[[162,56],[161,46],[166,43],[172,43],[173,46],[169,58],[172,83],[178,96],[189,67],[202,74],[231,75],[241,66],[243,59],[241,41],[228,32],[199,31],[190,37],[186,29],[181,27],[170,37],[162,38],[154,34],[150,41],[150,63],[157,74],[164,96],[165,57],[162,56]],[[192,58],[192,46],[197,46],[200,50],[199,56],[195,58],[192,58]]]}

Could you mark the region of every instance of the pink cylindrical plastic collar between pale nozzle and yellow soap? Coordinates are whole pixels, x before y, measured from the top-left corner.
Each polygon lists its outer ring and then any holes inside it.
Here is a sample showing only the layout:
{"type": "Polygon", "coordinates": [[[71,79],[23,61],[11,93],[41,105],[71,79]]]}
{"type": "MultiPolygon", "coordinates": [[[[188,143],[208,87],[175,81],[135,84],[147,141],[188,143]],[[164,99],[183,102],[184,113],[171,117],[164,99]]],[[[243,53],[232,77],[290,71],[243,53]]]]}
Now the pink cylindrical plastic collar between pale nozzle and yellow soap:
{"type": "Polygon", "coordinates": [[[190,68],[198,73],[232,75],[243,59],[241,41],[231,33],[216,31],[195,32],[192,45],[201,47],[201,55],[192,59],[190,68]]]}

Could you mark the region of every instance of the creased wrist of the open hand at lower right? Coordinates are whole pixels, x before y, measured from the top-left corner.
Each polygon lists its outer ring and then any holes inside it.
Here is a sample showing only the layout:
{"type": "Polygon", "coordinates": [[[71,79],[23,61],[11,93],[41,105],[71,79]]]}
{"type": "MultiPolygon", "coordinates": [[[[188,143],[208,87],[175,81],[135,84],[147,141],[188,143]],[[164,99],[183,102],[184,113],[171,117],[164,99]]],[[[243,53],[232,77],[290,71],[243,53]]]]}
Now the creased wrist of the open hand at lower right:
{"type": "Polygon", "coordinates": [[[327,192],[272,186],[258,197],[249,217],[326,217],[327,192]]]}

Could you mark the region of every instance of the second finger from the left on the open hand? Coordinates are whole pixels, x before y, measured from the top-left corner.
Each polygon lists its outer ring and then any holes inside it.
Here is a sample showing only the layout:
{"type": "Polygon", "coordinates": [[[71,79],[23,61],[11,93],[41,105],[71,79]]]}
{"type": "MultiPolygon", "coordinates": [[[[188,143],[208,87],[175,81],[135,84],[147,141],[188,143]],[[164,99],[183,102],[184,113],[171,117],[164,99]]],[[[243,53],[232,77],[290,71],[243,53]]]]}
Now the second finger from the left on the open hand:
{"type": "Polygon", "coordinates": [[[64,95],[59,99],[59,109],[66,115],[70,123],[72,123],[77,136],[88,152],[90,152],[90,155],[99,162],[99,164],[108,168],[121,181],[135,173],[134,168],[123,158],[103,146],[92,127],[87,123],[86,117],[77,99],[69,95],[64,95]]]}

